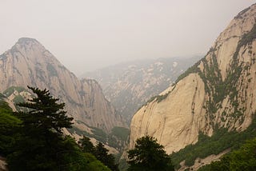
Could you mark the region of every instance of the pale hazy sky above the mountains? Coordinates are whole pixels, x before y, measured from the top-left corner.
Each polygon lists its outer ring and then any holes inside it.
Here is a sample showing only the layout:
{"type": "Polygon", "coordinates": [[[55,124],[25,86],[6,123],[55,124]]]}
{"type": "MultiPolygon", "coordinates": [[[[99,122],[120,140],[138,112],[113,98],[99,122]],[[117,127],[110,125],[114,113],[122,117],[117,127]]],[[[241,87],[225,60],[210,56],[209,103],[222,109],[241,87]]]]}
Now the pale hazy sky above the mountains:
{"type": "Polygon", "coordinates": [[[252,0],[0,0],[0,54],[36,38],[74,74],[137,58],[206,54],[252,0]]]}

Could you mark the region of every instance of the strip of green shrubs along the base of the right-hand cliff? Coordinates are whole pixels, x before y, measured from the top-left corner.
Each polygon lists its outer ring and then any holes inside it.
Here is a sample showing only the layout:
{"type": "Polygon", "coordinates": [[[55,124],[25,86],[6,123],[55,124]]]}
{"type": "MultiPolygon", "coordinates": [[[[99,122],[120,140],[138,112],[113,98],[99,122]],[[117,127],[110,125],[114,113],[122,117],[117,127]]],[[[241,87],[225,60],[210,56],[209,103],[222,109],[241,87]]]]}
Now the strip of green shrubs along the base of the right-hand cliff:
{"type": "Polygon", "coordinates": [[[256,137],[256,117],[251,125],[242,132],[228,131],[225,128],[215,130],[212,137],[208,137],[203,133],[199,133],[198,142],[194,145],[187,145],[184,149],[177,153],[172,153],[172,158],[176,168],[179,168],[179,163],[185,160],[185,165],[194,165],[197,157],[205,158],[211,154],[217,155],[226,149],[238,149],[246,140],[256,137]]]}

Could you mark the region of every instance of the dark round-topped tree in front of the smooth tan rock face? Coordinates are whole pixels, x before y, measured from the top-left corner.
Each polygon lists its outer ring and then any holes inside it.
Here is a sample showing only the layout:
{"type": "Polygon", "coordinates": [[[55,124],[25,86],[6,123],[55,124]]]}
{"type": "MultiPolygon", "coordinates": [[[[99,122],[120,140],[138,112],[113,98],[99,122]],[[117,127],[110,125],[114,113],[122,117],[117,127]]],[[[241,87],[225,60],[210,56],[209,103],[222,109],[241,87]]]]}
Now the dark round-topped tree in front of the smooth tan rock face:
{"type": "Polygon", "coordinates": [[[128,152],[128,170],[174,170],[164,147],[154,137],[146,135],[136,140],[134,149],[128,152]]]}

